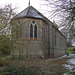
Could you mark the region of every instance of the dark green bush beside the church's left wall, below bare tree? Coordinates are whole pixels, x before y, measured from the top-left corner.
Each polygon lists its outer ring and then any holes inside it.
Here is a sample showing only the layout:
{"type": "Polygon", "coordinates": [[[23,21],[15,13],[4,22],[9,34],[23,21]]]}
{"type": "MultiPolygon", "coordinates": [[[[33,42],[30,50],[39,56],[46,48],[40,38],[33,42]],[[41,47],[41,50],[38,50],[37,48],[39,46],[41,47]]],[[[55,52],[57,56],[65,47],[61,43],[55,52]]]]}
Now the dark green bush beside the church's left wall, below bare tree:
{"type": "Polygon", "coordinates": [[[5,35],[0,35],[0,54],[1,55],[9,54],[11,46],[12,44],[9,37],[6,37],[5,35]]]}

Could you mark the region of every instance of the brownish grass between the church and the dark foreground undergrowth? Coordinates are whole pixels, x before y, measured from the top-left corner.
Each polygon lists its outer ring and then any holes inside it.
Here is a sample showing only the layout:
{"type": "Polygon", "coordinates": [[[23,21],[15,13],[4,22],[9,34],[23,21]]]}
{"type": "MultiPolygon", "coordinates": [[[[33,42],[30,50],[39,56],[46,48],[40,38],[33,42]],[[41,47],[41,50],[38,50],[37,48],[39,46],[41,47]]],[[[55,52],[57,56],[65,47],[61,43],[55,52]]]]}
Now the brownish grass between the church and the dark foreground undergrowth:
{"type": "MultiPolygon", "coordinates": [[[[61,75],[66,71],[66,69],[62,66],[66,64],[66,60],[69,58],[61,58],[58,60],[51,60],[50,59],[38,59],[38,58],[24,58],[24,59],[10,59],[11,56],[1,56],[0,60],[4,63],[3,67],[9,66],[16,67],[16,68],[31,68],[30,71],[41,71],[39,75],[43,75],[42,73],[46,73],[47,75],[61,75]],[[32,67],[34,68],[32,70],[32,67]]],[[[0,69],[3,67],[0,67],[0,69]]],[[[29,69],[28,69],[29,70],[29,69]]],[[[29,73],[29,72],[28,72],[29,73]]],[[[37,73],[38,74],[38,73],[37,73]]],[[[37,75],[34,74],[34,75],[37,75]]],[[[33,74],[32,74],[33,75],[33,74]]]]}

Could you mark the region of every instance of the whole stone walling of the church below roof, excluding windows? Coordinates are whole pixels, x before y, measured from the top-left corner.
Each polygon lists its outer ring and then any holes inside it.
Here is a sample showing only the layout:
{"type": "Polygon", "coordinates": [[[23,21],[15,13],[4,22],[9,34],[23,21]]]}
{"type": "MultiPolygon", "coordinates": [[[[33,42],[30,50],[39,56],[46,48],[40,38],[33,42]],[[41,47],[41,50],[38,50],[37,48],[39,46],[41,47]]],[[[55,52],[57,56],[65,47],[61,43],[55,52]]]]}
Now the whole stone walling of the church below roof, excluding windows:
{"type": "Polygon", "coordinates": [[[59,57],[65,54],[66,39],[53,26],[51,22],[45,23],[41,19],[18,18],[12,19],[12,42],[11,54],[15,56],[45,56],[59,57]],[[30,25],[35,21],[37,25],[37,40],[30,39],[30,25]]]}

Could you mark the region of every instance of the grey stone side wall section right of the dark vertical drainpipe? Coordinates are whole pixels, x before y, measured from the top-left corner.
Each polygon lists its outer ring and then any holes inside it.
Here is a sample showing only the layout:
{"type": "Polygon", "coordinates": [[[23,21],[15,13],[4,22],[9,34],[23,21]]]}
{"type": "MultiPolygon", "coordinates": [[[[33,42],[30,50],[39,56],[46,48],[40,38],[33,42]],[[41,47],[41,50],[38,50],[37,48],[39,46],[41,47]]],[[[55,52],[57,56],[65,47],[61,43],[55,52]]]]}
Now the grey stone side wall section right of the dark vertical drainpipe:
{"type": "Polygon", "coordinates": [[[54,57],[60,57],[65,55],[66,53],[66,46],[65,41],[66,38],[57,30],[54,31],[54,57]]]}

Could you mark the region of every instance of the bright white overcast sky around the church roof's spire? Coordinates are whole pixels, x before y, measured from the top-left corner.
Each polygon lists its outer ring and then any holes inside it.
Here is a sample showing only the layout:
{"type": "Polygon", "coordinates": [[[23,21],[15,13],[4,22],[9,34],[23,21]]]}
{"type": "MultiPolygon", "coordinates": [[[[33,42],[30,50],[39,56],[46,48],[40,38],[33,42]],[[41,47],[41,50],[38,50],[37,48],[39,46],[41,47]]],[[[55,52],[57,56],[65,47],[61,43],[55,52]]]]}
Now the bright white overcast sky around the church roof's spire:
{"type": "MultiPolygon", "coordinates": [[[[40,2],[40,0],[30,0],[30,5],[39,9],[40,2]]],[[[18,7],[18,12],[20,12],[28,7],[29,0],[0,0],[0,6],[4,6],[5,4],[12,4],[13,7],[18,7]]]]}

